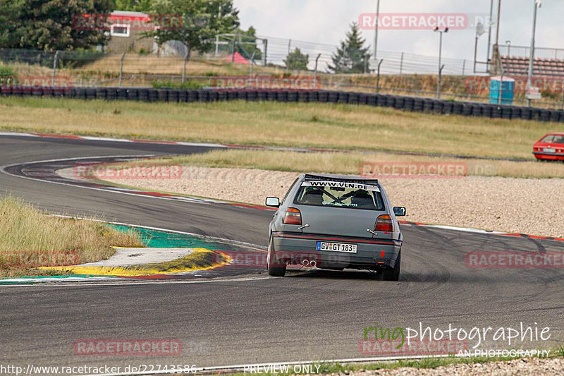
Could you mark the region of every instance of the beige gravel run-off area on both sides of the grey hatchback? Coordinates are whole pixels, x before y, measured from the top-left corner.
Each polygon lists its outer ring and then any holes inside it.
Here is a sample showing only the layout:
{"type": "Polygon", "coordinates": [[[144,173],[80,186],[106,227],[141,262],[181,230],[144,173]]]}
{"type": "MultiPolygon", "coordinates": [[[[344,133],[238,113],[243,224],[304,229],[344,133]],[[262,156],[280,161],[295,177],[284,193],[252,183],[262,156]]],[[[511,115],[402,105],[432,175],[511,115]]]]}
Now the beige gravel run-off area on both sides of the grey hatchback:
{"type": "MultiPolygon", "coordinates": [[[[285,171],[183,166],[179,178],[98,178],[264,205],[266,196],[283,198],[296,176],[285,171]]],[[[381,185],[393,205],[407,208],[406,221],[564,237],[564,179],[383,178],[381,185]]]]}

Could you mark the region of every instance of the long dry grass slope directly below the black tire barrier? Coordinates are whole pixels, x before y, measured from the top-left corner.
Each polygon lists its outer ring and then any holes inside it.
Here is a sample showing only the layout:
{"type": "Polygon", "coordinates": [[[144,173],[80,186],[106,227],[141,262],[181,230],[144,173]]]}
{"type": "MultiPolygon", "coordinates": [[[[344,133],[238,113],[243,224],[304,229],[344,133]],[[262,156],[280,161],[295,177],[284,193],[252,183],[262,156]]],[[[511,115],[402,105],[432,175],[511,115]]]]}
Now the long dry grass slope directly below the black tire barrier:
{"type": "Polygon", "coordinates": [[[563,125],[350,104],[1,97],[0,130],[533,160],[533,143],[563,125]]]}

